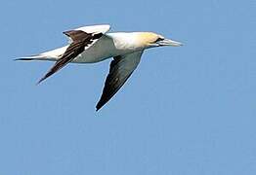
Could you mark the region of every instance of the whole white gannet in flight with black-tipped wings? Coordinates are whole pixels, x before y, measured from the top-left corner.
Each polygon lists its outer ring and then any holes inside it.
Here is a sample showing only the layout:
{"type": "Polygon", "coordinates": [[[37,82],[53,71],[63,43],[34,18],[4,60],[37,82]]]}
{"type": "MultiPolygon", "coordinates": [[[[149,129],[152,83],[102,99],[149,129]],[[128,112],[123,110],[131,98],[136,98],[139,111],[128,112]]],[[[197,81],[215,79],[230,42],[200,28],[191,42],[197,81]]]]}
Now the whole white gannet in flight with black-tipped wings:
{"type": "Polygon", "coordinates": [[[16,60],[50,60],[53,67],[38,82],[41,83],[67,63],[95,63],[113,57],[96,111],[124,85],[138,66],[145,50],[163,46],[182,46],[153,32],[112,32],[110,26],[91,25],[64,31],[68,45],[46,53],[20,57],[16,60]]]}

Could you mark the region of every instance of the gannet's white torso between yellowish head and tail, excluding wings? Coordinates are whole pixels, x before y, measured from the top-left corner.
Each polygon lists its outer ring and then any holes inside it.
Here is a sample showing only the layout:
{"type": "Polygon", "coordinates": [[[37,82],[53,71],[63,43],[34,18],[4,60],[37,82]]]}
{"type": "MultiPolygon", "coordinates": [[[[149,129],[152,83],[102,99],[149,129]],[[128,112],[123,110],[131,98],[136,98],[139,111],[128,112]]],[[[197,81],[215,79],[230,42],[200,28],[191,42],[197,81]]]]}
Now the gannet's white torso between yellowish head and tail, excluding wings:
{"type": "MultiPolygon", "coordinates": [[[[71,62],[94,63],[117,55],[143,51],[145,48],[143,48],[141,45],[137,45],[137,42],[135,41],[139,34],[140,32],[107,33],[92,47],[89,47],[83,53],[80,53],[78,56],[76,56],[71,62]]],[[[68,46],[64,46],[50,52],[41,53],[41,56],[45,55],[45,57],[41,60],[47,59],[56,61],[65,52],[67,47],[68,46]]]]}

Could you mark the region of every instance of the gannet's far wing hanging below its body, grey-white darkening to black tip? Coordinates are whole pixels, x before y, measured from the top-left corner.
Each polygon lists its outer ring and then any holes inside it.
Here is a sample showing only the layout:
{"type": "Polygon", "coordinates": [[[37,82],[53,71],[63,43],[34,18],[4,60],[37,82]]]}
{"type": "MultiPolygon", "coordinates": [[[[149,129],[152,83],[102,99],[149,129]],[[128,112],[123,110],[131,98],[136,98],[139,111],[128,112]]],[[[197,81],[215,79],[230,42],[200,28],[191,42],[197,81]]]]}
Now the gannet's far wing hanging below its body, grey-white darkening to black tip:
{"type": "Polygon", "coordinates": [[[141,60],[142,54],[143,51],[113,57],[103,94],[96,106],[97,111],[107,103],[132,75],[141,60]]]}

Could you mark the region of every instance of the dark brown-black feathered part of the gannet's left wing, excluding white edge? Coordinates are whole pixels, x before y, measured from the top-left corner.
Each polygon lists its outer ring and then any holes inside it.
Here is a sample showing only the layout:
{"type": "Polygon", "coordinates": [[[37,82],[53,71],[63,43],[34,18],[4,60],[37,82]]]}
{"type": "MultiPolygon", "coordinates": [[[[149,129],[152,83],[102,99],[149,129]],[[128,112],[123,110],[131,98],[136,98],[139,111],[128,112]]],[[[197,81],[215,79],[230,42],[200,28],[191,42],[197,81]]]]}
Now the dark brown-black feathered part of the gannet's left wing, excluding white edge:
{"type": "Polygon", "coordinates": [[[66,51],[55,65],[47,72],[47,74],[38,82],[41,83],[58,70],[62,69],[67,63],[72,61],[78,54],[83,53],[86,48],[89,48],[94,42],[103,36],[103,33],[87,33],[82,30],[65,31],[72,43],[67,47],[66,51]]]}

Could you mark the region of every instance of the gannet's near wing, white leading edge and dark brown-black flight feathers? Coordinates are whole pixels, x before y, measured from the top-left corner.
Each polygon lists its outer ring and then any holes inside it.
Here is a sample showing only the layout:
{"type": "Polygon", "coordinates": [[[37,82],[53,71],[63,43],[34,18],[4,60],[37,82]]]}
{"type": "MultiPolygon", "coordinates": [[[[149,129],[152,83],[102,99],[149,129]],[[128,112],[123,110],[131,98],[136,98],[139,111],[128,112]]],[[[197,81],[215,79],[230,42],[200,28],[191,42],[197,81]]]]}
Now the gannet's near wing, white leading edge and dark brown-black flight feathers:
{"type": "Polygon", "coordinates": [[[70,45],[65,50],[64,54],[56,61],[54,66],[39,80],[38,84],[62,69],[78,54],[83,53],[93,46],[108,30],[109,25],[94,25],[65,31],[64,34],[69,37],[71,41],[70,45]]]}

